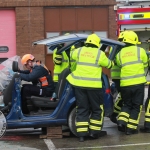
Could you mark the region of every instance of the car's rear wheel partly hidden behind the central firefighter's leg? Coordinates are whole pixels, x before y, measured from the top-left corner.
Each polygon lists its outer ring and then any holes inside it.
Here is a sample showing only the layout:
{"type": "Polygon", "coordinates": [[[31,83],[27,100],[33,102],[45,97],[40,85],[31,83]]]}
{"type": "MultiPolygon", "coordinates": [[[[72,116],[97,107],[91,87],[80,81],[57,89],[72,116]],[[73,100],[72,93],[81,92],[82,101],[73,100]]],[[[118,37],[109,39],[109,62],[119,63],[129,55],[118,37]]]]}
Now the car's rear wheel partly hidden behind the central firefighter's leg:
{"type": "Polygon", "coordinates": [[[69,129],[70,131],[77,136],[77,131],[76,131],[76,108],[73,108],[69,114],[69,118],[68,118],[68,125],[69,125],[69,129]]]}

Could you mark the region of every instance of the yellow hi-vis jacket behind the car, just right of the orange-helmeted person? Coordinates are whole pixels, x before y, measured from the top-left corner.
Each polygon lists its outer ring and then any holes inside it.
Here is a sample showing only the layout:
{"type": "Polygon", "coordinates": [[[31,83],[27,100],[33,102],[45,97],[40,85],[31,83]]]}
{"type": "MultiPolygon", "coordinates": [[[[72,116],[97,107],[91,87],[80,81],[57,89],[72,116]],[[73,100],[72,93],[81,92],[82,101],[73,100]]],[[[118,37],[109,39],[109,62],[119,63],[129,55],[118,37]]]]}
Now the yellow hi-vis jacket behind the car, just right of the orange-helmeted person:
{"type": "MultiPolygon", "coordinates": [[[[54,50],[53,60],[56,56],[56,52],[57,52],[57,49],[54,50]]],[[[54,76],[53,76],[54,82],[58,82],[58,76],[60,75],[60,73],[69,66],[69,58],[68,58],[66,52],[62,52],[61,54],[62,54],[61,65],[54,64],[54,76]]]]}

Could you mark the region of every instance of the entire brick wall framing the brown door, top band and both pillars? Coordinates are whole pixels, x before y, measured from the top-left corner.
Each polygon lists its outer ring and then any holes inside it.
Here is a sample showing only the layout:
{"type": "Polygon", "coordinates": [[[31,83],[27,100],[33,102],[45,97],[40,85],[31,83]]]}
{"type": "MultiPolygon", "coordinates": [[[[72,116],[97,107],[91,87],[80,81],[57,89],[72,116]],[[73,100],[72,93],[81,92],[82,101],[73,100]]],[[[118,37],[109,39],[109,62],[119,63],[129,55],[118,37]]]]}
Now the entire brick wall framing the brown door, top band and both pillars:
{"type": "Polygon", "coordinates": [[[32,47],[32,42],[44,38],[44,6],[108,6],[109,38],[116,39],[115,0],[1,0],[0,8],[16,10],[17,55],[32,53],[45,62],[44,46],[32,47]],[[29,7],[31,6],[31,7],[29,7]]]}

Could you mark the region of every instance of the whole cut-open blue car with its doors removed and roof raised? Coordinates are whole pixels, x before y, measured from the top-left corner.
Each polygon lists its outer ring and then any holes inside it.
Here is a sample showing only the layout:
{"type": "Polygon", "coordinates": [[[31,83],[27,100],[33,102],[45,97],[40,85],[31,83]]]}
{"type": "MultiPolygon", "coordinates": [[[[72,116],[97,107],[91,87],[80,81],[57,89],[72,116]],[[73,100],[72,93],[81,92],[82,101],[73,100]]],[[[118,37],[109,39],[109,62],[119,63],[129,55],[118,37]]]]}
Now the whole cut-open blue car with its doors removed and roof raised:
{"type": "MultiPolygon", "coordinates": [[[[52,51],[59,45],[64,44],[64,47],[59,49],[58,53],[66,51],[72,45],[84,43],[88,35],[86,34],[70,34],[57,36],[40,41],[33,42],[33,45],[44,44],[52,51]]],[[[112,47],[112,52],[109,55],[111,60],[114,59],[118,51],[124,46],[124,43],[101,38],[102,51],[105,51],[108,46],[112,47]]],[[[13,63],[13,69],[18,67],[16,62],[13,63]]],[[[75,127],[75,107],[76,100],[73,87],[67,82],[66,77],[70,73],[70,69],[65,69],[58,81],[57,95],[58,99],[54,102],[50,101],[50,97],[31,96],[28,98],[27,106],[30,110],[29,115],[25,115],[21,110],[21,80],[19,74],[14,74],[10,84],[4,92],[5,107],[0,108],[7,120],[8,129],[16,128],[44,128],[48,126],[69,126],[71,132],[76,135],[75,127]]],[[[102,74],[103,91],[104,91],[104,107],[105,116],[111,115],[113,111],[113,95],[114,87],[110,86],[107,75],[102,74]]]]}

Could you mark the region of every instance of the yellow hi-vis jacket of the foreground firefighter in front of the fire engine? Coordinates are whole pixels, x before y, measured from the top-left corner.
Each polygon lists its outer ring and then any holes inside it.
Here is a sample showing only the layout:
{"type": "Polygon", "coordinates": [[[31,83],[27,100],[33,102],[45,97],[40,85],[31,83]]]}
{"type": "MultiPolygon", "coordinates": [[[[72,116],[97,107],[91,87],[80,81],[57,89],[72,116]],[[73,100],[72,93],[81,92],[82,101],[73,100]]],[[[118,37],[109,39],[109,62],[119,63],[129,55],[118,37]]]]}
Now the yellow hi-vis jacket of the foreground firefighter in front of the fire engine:
{"type": "Polygon", "coordinates": [[[143,48],[137,46],[122,48],[117,54],[116,63],[121,67],[121,87],[146,82],[144,67],[148,66],[148,58],[143,48]]]}

